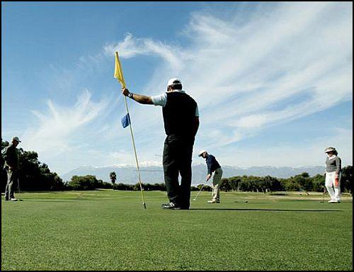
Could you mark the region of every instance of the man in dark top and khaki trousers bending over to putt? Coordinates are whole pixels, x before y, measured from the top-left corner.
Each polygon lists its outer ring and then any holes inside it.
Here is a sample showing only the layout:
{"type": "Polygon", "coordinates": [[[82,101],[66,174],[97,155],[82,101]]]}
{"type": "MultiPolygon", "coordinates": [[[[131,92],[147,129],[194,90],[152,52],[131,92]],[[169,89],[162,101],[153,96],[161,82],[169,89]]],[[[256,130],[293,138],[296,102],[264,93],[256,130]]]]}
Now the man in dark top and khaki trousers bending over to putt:
{"type": "Polygon", "coordinates": [[[202,157],[207,162],[207,179],[212,177],[212,200],[207,203],[220,203],[220,184],[222,181],[222,168],[212,154],[207,154],[205,150],[199,152],[198,157],[202,157]]]}

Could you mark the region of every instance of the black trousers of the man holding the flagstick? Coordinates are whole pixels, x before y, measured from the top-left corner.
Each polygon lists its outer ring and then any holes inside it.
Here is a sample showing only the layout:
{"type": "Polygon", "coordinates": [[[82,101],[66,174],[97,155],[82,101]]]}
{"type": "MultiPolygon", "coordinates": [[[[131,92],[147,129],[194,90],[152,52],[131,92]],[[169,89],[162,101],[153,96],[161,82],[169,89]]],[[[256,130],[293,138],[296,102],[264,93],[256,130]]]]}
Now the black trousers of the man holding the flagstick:
{"type": "Polygon", "coordinates": [[[183,208],[190,205],[193,137],[169,135],[164,143],[164,177],[170,202],[183,208]],[[181,174],[181,185],[178,183],[181,174]]]}

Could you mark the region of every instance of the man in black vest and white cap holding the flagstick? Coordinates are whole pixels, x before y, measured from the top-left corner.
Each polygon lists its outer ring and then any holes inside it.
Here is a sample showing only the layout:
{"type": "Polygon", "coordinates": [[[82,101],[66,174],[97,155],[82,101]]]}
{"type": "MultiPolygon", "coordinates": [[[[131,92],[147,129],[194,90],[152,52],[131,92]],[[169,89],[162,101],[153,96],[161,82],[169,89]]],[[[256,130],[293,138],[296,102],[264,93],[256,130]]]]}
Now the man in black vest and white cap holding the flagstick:
{"type": "Polygon", "coordinates": [[[164,142],[164,178],[169,198],[161,208],[188,210],[192,183],[192,153],[199,127],[198,105],[182,90],[180,79],[170,79],[167,92],[160,96],[132,94],[122,88],[122,94],[138,103],[162,106],[166,140],[164,142]],[[181,174],[181,186],[178,183],[181,174]]]}

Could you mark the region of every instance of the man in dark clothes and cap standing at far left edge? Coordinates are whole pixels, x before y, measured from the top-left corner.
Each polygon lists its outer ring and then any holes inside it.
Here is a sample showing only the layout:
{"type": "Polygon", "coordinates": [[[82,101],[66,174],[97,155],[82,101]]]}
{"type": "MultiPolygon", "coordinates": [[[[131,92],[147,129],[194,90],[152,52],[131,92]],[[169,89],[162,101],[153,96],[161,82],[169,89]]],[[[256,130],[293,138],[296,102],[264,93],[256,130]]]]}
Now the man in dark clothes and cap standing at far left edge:
{"type": "Polygon", "coordinates": [[[13,195],[16,182],[18,182],[18,150],[17,146],[21,141],[18,137],[12,137],[11,145],[4,151],[5,169],[7,171],[7,184],[5,188],[5,200],[17,201],[13,195]]]}

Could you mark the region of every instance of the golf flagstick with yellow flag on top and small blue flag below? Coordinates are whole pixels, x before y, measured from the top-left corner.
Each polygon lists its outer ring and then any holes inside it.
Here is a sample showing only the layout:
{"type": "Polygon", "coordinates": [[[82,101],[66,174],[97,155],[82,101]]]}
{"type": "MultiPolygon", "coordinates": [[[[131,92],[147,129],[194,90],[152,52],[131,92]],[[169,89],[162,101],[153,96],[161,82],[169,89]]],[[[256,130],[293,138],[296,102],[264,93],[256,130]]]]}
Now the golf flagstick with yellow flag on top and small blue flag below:
{"type": "MultiPolygon", "coordinates": [[[[118,81],[120,81],[120,84],[122,85],[122,89],[124,89],[125,88],[125,81],[124,81],[124,77],[123,77],[123,73],[122,73],[122,67],[120,65],[120,60],[119,60],[119,57],[118,57],[118,52],[115,52],[114,77],[116,79],[118,79],[118,81]]],[[[128,125],[130,125],[130,134],[132,135],[132,145],[133,145],[134,154],[135,154],[135,162],[137,164],[137,175],[139,177],[140,192],[142,193],[142,205],[144,205],[144,208],[146,209],[147,205],[145,204],[144,193],[142,192],[142,181],[140,179],[139,163],[137,161],[137,150],[135,149],[134,136],[133,136],[133,133],[132,133],[132,123],[130,121],[130,115],[129,115],[129,110],[128,110],[128,104],[127,104],[126,96],[124,96],[124,101],[125,101],[125,108],[127,110],[127,115],[125,115],[122,118],[122,125],[123,125],[123,128],[127,127],[128,125]]]]}

